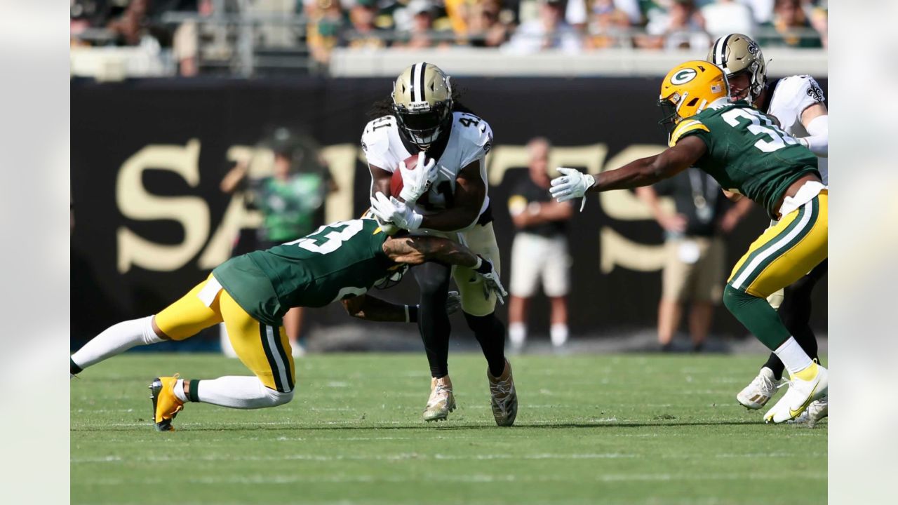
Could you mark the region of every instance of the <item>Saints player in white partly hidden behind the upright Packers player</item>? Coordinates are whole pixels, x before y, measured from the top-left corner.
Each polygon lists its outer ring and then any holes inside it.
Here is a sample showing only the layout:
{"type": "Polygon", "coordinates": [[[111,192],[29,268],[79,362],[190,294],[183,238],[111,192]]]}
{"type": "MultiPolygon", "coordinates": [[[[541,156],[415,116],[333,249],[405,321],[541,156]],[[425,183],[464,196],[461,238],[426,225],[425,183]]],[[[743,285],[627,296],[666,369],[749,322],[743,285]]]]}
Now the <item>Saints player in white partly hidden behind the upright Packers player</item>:
{"type": "MultiPolygon", "coordinates": [[[[745,100],[757,109],[779,120],[786,130],[804,144],[818,160],[823,184],[828,184],[829,171],[826,157],[829,151],[829,119],[824,103],[823,90],[810,75],[789,75],[767,81],[767,62],[761,47],[747,35],[732,33],[714,42],[708,52],[708,61],[724,70],[734,100],[745,100]]],[[[811,317],[811,292],[817,281],[826,274],[826,261],[811,270],[785,291],[774,294],[771,305],[779,305],[779,318],[796,341],[818,363],[817,340],[808,321],[811,317]]],[[[736,395],[739,403],[749,409],[760,409],[776,394],[782,384],[783,364],[776,354],[761,368],[758,377],[736,395]]],[[[776,407],[774,407],[775,409],[776,407]]],[[[808,406],[799,421],[811,426],[827,416],[829,399],[824,396],[808,406]]]]}

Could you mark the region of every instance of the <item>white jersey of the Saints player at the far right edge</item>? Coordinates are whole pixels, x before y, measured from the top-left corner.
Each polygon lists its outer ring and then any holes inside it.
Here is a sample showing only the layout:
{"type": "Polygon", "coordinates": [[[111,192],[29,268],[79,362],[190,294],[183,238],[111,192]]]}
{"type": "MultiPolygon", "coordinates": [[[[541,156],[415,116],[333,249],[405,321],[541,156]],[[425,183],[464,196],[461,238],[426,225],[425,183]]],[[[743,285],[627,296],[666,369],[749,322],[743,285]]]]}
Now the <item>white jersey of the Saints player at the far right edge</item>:
{"type": "MultiPolygon", "coordinates": [[[[823,103],[823,90],[810,75],[789,75],[770,86],[772,94],[767,113],[779,120],[780,128],[792,137],[807,137],[801,113],[814,103],[823,103]]],[[[823,184],[829,184],[826,158],[817,158],[817,168],[823,176],[823,184]]]]}

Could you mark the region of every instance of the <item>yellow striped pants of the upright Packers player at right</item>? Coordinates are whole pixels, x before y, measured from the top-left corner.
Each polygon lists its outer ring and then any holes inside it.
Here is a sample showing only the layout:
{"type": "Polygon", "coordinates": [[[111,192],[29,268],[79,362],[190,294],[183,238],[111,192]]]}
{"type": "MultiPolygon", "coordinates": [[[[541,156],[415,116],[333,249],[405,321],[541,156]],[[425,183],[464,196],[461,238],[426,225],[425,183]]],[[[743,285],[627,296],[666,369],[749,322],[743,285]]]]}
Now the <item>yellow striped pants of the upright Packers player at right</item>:
{"type": "Polygon", "coordinates": [[[829,191],[770,226],[733,267],[727,284],[754,297],[770,297],[827,257],[829,191]]]}

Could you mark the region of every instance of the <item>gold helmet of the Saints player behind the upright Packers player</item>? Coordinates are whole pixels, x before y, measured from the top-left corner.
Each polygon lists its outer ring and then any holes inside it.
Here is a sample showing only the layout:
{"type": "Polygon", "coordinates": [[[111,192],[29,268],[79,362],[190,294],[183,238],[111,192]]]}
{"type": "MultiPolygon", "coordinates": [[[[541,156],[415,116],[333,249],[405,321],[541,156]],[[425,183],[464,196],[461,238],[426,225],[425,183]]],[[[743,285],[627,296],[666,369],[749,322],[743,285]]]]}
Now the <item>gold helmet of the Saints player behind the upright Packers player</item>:
{"type": "Polygon", "coordinates": [[[722,68],[727,79],[743,72],[749,76],[744,96],[735,99],[754,103],[767,84],[767,64],[761,46],[748,35],[731,33],[715,40],[708,51],[708,61],[722,68]]]}

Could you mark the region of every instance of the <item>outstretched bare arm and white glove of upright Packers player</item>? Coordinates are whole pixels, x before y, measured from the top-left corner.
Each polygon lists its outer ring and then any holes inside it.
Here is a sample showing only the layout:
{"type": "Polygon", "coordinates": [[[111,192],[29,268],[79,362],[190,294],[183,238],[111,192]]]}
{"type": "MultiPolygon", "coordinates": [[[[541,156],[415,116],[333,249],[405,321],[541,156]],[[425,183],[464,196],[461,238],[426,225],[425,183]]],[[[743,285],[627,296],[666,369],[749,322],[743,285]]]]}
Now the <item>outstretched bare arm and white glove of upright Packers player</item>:
{"type": "Polygon", "coordinates": [[[559,168],[564,177],[552,180],[550,193],[559,201],[582,197],[586,192],[628,190],[648,186],[673,177],[699,161],[708,147],[699,137],[684,137],[673,147],[668,147],[660,155],[639,158],[616,170],[609,170],[597,176],[579,173],[572,169],[559,168]]]}

